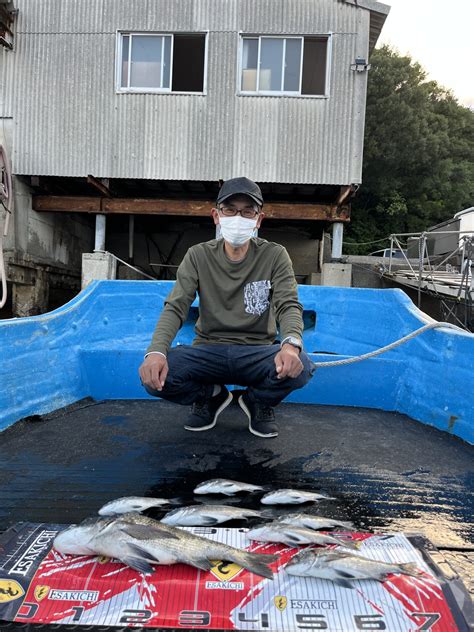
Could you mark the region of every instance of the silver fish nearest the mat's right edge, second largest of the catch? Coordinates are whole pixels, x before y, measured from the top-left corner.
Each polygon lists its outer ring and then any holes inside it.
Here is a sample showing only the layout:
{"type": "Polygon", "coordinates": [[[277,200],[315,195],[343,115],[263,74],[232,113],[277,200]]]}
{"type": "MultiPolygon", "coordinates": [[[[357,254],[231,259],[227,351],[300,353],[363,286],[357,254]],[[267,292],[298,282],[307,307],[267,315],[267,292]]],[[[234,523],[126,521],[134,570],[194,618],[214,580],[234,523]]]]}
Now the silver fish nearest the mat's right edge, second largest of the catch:
{"type": "Polygon", "coordinates": [[[306,549],[297,553],[285,566],[289,575],[329,579],[344,588],[354,588],[352,581],[372,579],[383,582],[390,574],[419,577],[422,571],[416,564],[391,564],[371,560],[346,551],[316,551],[306,549]]]}

